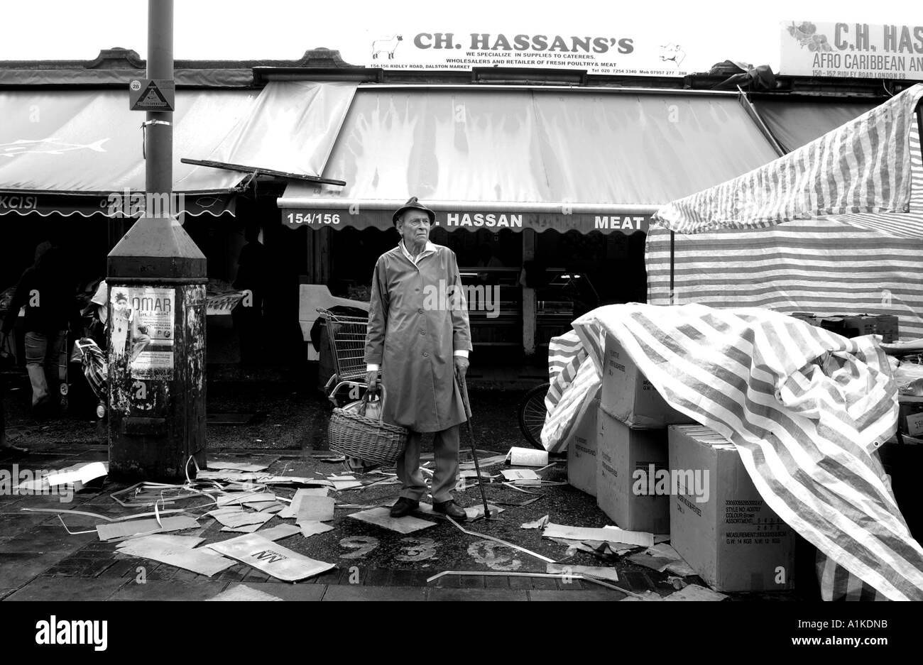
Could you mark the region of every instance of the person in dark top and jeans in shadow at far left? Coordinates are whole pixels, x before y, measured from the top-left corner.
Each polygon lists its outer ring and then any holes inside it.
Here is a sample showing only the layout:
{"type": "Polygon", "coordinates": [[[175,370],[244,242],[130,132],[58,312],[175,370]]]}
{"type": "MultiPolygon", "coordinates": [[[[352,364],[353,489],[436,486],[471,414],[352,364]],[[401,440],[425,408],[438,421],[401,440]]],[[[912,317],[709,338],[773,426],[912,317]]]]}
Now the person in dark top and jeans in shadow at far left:
{"type": "Polygon", "coordinates": [[[26,308],[26,370],[32,385],[32,415],[54,411],[52,397],[58,381],[58,363],[67,327],[78,316],[76,291],[69,279],[63,251],[52,243],[39,244],[35,263],[19,278],[3,332],[16,327],[19,309],[26,308]]]}

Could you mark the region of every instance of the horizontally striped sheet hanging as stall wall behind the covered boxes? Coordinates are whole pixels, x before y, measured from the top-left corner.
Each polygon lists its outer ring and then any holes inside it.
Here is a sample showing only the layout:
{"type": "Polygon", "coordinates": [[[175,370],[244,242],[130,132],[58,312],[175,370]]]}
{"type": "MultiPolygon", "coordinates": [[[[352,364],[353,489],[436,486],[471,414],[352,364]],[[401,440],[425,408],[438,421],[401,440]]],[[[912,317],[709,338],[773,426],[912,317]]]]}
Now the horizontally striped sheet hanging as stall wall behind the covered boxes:
{"type": "MultiPolygon", "coordinates": [[[[668,304],[670,233],[647,237],[648,303],[668,304]]],[[[890,314],[902,339],[923,337],[923,240],[831,219],[760,230],[677,233],[678,304],[765,307],[817,315],[890,314]]]]}

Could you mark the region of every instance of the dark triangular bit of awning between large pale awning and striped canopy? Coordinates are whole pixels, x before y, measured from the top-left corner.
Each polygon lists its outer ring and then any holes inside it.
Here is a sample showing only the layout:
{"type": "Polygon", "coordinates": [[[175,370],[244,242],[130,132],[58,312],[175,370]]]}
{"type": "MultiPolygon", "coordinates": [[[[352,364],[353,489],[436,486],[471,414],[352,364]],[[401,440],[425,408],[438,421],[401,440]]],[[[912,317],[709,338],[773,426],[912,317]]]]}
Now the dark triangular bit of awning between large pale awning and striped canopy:
{"type": "Polygon", "coordinates": [[[754,100],[752,103],[785,152],[809,144],[878,105],[866,101],[754,100]]]}

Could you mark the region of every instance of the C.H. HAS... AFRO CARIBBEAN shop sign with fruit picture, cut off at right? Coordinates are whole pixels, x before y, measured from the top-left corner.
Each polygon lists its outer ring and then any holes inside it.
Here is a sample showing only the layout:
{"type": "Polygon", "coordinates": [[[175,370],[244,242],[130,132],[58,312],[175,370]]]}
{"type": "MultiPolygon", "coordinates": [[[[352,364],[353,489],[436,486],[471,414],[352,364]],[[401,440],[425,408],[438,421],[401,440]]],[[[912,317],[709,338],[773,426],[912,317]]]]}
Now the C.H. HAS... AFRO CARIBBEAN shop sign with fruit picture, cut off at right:
{"type": "Polygon", "coordinates": [[[923,25],[785,21],[780,74],[923,80],[923,25]]]}

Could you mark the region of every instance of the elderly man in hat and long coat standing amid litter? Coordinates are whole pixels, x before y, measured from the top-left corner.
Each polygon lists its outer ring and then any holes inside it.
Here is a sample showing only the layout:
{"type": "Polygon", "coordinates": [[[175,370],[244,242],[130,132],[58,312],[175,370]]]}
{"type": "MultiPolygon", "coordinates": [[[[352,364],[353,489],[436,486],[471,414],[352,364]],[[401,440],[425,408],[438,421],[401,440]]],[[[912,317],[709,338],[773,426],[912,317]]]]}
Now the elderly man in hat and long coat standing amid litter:
{"type": "Polygon", "coordinates": [[[391,517],[403,517],[420,505],[426,492],[420,443],[422,433],[434,432],[433,509],[464,519],[451,493],[459,469],[459,424],[465,421],[455,374],[463,378],[468,369],[471,331],[455,254],[429,242],[435,219],[436,213],[416,196],[394,213],[401,242],[375,264],[366,384],[372,394],[378,391],[380,369],[382,419],[411,431],[397,461],[402,491],[391,517]]]}

